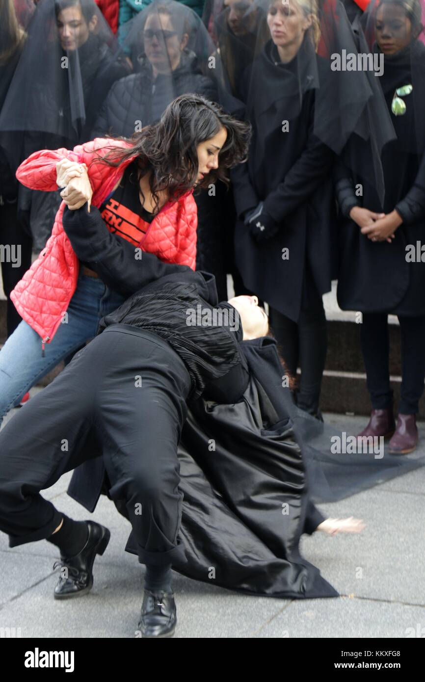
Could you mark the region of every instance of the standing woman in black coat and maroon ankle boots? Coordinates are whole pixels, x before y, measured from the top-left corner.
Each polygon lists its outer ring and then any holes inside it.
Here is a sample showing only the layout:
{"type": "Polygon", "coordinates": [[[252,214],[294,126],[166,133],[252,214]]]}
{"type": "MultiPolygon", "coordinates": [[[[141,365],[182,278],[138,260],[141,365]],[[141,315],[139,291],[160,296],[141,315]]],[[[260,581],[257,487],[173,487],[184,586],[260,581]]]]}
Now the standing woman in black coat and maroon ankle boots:
{"type": "MultiPolygon", "coordinates": [[[[417,443],[415,415],[425,377],[425,257],[420,250],[425,237],[425,46],[419,40],[419,0],[380,0],[369,14],[367,29],[372,25],[376,37],[373,49],[384,60],[379,83],[397,138],[383,149],[383,203],[361,175],[338,164],[336,190],[343,216],[338,303],[343,310],[363,314],[360,337],[372,415],[360,435],[394,433],[390,451],[406,454],[417,443]],[[397,424],[389,372],[390,313],[398,316],[402,348],[397,424]]],[[[367,167],[368,147],[360,140],[354,146],[357,160],[367,167]]]]}

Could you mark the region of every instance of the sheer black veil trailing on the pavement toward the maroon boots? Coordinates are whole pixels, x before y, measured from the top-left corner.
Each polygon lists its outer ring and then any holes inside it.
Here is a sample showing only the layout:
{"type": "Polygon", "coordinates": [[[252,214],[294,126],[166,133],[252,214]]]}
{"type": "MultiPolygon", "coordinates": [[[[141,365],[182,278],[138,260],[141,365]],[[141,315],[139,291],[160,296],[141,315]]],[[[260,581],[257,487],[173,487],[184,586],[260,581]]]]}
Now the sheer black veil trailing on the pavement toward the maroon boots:
{"type": "Polygon", "coordinates": [[[302,452],[312,501],[345,499],[424,466],[424,456],[389,454],[387,447],[379,442],[354,444],[354,434],[340,432],[300,410],[284,381],[286,372],[273,339],[244,341],[241,349],[250,374],[263,387],[275,411],[274,419],[265,426],[267,434],[274,433],[279,439],[280,432],[291,428],[290,441],[295,441],[302,452]]]}

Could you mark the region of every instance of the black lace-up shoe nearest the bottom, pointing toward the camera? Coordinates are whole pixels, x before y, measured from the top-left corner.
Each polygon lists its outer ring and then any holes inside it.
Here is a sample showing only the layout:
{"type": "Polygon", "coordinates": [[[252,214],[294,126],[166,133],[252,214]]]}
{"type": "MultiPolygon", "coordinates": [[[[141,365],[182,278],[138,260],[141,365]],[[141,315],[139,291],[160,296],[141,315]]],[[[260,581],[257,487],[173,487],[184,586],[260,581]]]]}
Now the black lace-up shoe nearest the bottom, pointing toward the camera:
{"type": "Polygon", "coordinates": [[[176,623],[174,593],[145,590],[141,621],[138,623],[142,637],[172,637],[176,623]]]}

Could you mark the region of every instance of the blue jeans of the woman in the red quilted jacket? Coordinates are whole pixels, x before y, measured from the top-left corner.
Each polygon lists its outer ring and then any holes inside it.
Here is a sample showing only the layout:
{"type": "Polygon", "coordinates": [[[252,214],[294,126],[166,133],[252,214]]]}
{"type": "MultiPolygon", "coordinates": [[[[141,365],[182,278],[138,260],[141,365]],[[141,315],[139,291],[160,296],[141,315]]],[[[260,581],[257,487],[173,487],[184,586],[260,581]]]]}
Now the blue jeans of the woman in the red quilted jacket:
{"type": "Polygon", "coordinates": [[[102,280],[80,273],[64,321],[45,344],[25,321],[16,327],[0,351],[0,425],[3,417],[43,376],[70,353],[96,336],[99,321],[125,301],[102,280]]]}

